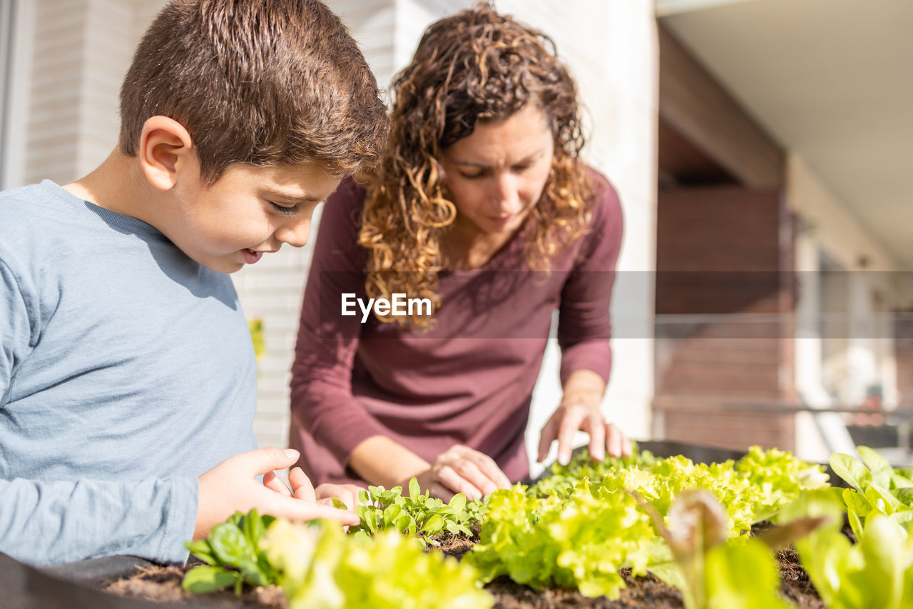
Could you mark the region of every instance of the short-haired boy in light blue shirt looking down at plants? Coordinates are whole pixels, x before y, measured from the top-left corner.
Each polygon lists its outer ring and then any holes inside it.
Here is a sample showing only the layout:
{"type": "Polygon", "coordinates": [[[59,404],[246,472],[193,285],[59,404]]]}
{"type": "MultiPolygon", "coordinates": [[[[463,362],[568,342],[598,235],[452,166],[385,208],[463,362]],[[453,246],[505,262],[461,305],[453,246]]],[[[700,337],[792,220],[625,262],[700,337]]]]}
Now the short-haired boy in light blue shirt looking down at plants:
{"type": "Polygon", "coordinates": [[[304,245],[386,129],[317,0],[163,9],[123,81],[118,148],[65,187],[0,194],[0,551],[181,562],[236,510],[357,522],[299,470],[293,497],[271,474],[296,451],[251,450],[256,361],[225,273],[304,245]]]}

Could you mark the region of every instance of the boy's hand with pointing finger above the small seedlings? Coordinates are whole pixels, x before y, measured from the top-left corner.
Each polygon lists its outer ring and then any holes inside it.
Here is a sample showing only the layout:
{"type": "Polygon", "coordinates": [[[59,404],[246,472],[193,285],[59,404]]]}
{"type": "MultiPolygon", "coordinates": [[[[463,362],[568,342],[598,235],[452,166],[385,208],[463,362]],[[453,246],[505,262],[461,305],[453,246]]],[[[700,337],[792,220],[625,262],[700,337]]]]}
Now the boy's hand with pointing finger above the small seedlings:
{"type": "MultiPolygon", "coordinates": [[[[298,456],[298,451],[290,448],[260,448],[229,457],[200,475],[194,540],[205,538],[209,535],[209,529],[225,522],[236,511],[247,513],[253,508],[257,508],[261,515],[268,514],[277,518],[329,518],[343,525],[357,525],[359,518],[352,512],[316,503],[313,486],[310,486],[308,476],[300,470],[300,475],[295,475],[294,480],[289,473],[289,482],[295,487],[295,493],[289,493],[290,497],[281,491],[277,492],[274,483],[269,483],[272,486],[264,486],[268,484],[267,474],[294,465],[298,456]],[[257,475],[264,475],[264,485],[257,482],[257,475]]],[[[278,482],[285,486],[281,481],[278,482]]]]}

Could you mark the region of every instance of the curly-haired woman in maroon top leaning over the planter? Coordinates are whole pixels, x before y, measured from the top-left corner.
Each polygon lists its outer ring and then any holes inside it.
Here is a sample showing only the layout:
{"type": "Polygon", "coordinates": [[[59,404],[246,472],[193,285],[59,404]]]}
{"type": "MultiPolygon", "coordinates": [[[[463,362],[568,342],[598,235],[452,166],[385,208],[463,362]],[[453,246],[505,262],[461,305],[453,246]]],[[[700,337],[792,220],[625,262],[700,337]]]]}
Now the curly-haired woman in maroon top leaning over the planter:
{"type": "Polygon", "coordinates": [[[563,397],[540,461],[557,440],[566,463],[578,430],[597,459],[628,454],[599,410],[621,210],[578,159],[576,88],[551,40],[476,5],[428,27],[393,92],[383,165],[344,182],[320,223],[292,369],[299,465],[315,484],[416,476],[445,499],[527,476],[555,309],[563,397]],[[364,313],[394,294],[416,306],[364,313]]]}

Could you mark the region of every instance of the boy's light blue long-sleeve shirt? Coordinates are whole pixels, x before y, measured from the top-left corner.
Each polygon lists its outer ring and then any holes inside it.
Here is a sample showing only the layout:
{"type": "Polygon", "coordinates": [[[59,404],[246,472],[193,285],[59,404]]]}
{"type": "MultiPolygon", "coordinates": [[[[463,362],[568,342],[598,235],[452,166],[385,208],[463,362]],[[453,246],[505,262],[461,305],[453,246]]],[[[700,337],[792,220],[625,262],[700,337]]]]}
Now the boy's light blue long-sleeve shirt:
{"type": "Polygon", "coordinates": [[[184,561],[197,476],[256,447],[228,275],[50,181],[0,193],[0,551],[184,561]]]}

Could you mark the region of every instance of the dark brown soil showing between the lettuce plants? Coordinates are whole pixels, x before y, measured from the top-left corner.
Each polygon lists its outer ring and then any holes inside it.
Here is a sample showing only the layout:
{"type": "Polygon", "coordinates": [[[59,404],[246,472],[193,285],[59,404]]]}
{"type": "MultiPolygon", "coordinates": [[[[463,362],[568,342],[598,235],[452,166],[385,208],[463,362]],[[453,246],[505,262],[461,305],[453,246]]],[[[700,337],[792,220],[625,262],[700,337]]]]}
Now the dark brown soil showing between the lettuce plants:
{"type": "MultiPolygon", "coordinates": [[[[438,550],[457,559],[470,550],[477,539],[462,536],[446,535],[437,540],[438,550]]],[[[431,547],[431,546],[429,546],[431,547]]],[[[826,609],[826,606],[815,591],[808,574],[799,563],[794,550],[779,550],[777,561],[782,576],[781,592],[792,603],[801,609],[826,609]]],[[[275,586],[256,588],[237,597],[231,592],[196,595],[184,592],[181,578],[184,576],[181,567],[147,567],[139,570],[129,579],[110,583],[105,590],[123,596],[140,597],[159,603],[186,603],[193,606],[224,607],[240,609],[242,607],[257,609],[285,609],[287,604],[281,591],[275,586]]],[[[511,582],[507,577],[500,577],[488,583],[486,590],[495,597],[497,609],[554,609],[559,607],[591,607],[593,609],[684,609],[682,595],[666,583],[660,582],[653,575],[634,577],[630,570],[622,570],[626,588],[621,596],[610,601],[603,597],[588,598],[581,593],[569,590],[546,589],[539,592],[529,586],[511,582]]]]}

